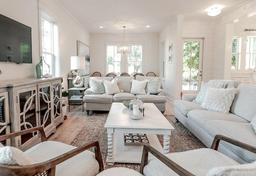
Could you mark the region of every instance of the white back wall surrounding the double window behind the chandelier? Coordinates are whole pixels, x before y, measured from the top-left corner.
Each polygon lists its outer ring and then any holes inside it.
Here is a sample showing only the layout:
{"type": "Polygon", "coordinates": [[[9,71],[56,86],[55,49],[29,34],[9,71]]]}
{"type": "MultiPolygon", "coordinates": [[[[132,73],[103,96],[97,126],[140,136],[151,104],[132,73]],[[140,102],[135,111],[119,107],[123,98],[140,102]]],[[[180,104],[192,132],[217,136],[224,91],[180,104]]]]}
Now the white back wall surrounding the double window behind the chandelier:
{"type": "MultiPolygon", "coordinates": [[[[106,46],[108,44],[122,44],[123,34],[92,34],[90,72],[100,72],[102,76],[106,70],[106,46]]],[[[158,68],[158,34],[125,34],[126,44],[142,44],[142,73],[154,72],[159,76],[158,68]]]]}

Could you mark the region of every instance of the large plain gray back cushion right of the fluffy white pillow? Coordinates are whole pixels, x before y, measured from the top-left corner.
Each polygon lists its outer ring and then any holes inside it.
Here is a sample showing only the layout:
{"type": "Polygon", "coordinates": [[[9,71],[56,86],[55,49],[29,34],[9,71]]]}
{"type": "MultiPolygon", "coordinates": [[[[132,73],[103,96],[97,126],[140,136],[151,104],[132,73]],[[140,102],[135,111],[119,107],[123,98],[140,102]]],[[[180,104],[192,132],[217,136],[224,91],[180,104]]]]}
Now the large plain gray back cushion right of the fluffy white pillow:
{"type": "Polygon", "coordinates": [[[256,86],[239,84],[230,112],[248,121],[256,114],[256,86]]]}

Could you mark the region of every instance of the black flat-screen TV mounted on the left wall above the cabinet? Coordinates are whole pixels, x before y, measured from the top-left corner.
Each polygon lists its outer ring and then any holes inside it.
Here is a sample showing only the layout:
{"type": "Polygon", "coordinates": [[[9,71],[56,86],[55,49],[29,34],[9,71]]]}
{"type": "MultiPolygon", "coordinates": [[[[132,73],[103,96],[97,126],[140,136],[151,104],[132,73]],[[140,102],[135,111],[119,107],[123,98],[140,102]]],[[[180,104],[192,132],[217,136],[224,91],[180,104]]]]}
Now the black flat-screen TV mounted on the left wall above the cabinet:
{"type": "Polygon", "coordinates": [[[32,64],[31,28],[0,14],[0,62],[32,64]]]}

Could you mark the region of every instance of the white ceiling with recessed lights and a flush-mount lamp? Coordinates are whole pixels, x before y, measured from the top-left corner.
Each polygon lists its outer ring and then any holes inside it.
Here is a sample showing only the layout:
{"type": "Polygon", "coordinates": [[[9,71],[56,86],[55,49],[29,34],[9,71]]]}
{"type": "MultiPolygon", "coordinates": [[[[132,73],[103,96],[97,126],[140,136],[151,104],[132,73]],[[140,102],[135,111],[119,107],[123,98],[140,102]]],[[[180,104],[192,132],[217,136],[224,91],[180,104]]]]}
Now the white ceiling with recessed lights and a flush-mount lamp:
{"type": "Polygon", "coordinates": [[[125,33],[158,33],[177,14],[184,14],[184,21],[213,21],[251,1],[59,0],[91,34],[122,33],[122,26],[126,26],[125,33]],[[208,16],[206,9],[214,6],[219,6],[222,13],[208,16]],[[147,25],[150,28],[146,28],[147,25]]]}

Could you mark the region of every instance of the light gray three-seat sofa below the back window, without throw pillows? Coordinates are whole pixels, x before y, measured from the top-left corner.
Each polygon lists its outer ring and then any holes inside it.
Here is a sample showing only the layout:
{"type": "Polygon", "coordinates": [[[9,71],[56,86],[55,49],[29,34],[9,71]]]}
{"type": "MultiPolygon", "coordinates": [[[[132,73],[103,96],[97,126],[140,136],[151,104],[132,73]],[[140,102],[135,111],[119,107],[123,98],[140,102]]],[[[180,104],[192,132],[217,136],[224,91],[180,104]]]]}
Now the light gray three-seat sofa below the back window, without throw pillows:
{"type": "MultiPolygon", "coordinates": [[[[129,100],[142,100],[144,103],[154,103],[156,107],[164,113],[165,111],[165,103],[167,102],[166,98],[166,91],[161,90],[158,94],[132,94],[130,93],[132,88],[131,80],[134,79],[133,76],[116,76],[117,85],[122,92],[118,92],[114,95],[108,94],[92,94],[92,88],[89,84],[89,87],[84,92],[83,100],[85,102],[85,109],[87,114],[89,114],[90,110],[100,110],[100,111],[109,111],[112,102],[122,102],[122,101],[129,101],[129,100]]],[[[159,77],[153,76],[136,76],[136,80],[143,81],[147,80],[155,80],[159,77]]],[[[90,77],[93,80],[108,80],[112,81],[113,77],[90,77]]]]}

